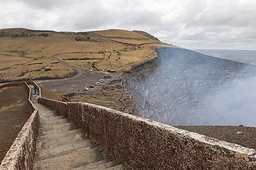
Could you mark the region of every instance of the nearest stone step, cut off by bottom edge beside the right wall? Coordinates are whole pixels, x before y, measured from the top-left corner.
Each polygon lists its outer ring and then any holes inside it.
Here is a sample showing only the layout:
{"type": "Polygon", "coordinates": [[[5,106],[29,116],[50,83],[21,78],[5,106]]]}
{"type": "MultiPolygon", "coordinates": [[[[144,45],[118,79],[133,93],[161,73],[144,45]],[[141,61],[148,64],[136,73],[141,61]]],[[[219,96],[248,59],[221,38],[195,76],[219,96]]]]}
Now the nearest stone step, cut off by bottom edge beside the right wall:
{"type": "Polygon", "coordinates": [[[123,166],[119,166],[120,164],[116,161],[116,160],[108,160],[108,159],[104,159],[101,160],[99,162],[95,162],[95,163],[89,163],[85,166],[81,166],[81,167],[77,167],[74,168],[73,170],[86,170],[86,169],[110,169],[110,168],[114,168],[114,169],[123,169],[123,166]]]}

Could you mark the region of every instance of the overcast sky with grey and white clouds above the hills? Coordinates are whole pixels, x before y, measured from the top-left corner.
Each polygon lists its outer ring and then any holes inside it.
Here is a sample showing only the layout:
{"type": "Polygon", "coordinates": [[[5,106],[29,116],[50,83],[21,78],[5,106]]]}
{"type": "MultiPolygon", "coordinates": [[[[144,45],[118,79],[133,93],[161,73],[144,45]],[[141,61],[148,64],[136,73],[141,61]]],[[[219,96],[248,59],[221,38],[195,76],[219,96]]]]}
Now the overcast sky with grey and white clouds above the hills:
{"type": "Polygon", "coordinates": [[[0,0],[0,28],[143,30],[194,49],[255,49],[255,0],[0,0]]]}

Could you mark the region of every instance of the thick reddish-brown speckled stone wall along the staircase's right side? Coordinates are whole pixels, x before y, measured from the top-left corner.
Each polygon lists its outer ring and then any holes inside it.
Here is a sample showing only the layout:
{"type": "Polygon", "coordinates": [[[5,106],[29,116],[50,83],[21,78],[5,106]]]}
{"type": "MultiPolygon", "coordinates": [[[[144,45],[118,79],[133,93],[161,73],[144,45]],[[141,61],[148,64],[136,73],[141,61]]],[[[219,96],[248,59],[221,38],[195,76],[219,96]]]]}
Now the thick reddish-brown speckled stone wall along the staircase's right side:
{"type": "Polygon", "coordinates": [[[87,103],[41,103],[134,169],[256,169],[256,151],[87,103]]]}

